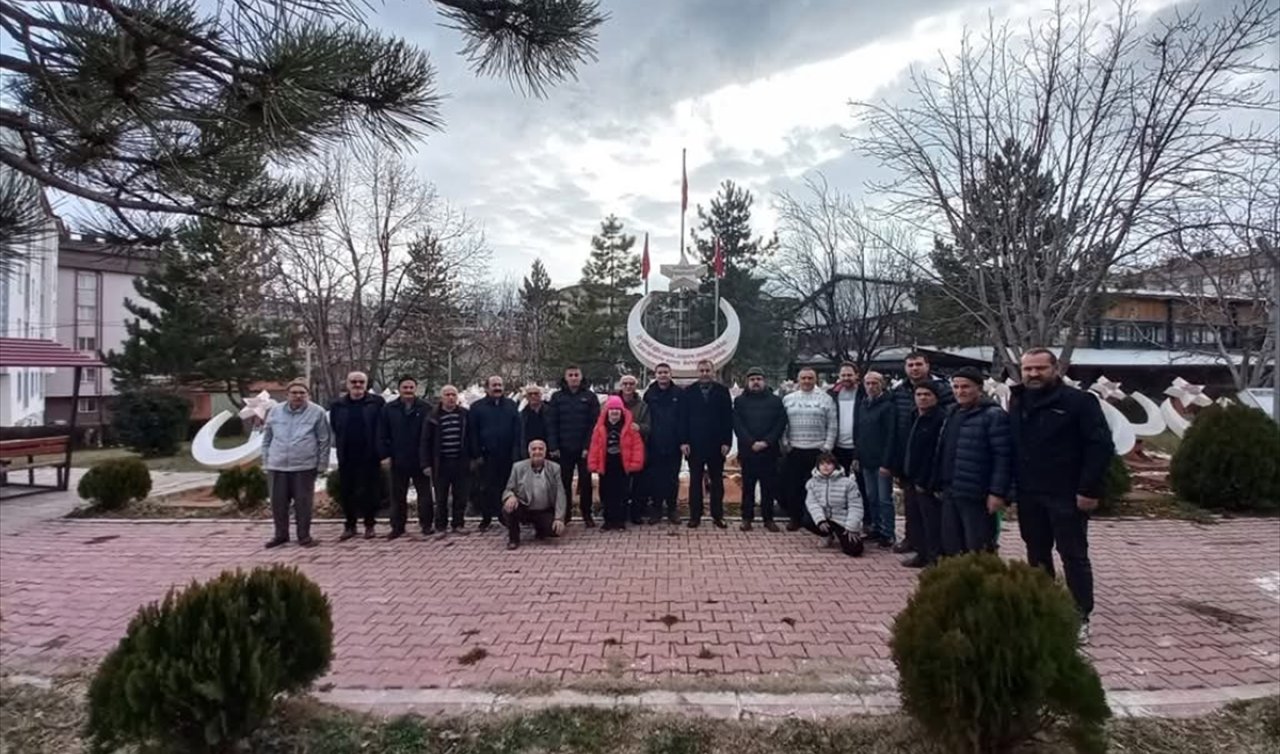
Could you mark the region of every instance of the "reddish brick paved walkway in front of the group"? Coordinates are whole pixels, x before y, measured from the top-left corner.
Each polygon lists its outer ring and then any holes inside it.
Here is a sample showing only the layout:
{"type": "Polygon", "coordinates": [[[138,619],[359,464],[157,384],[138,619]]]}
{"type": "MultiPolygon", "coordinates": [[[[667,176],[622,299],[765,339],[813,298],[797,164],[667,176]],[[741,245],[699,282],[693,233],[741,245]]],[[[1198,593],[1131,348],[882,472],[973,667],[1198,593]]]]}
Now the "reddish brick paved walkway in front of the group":
{"type": "MultiPolygon", "coordinates": [[[[268,553],[262,524],[47,521],[0,538],[0,661],[101,657],[140,603],[232,566],[297,563],[330,595],[339,687],[657,682],[890,687],[886,636],[914,581],[800,534],[572,527],[503,549],[497,533],[268,553]],[[668,534],[673,531],[675,534],[668,534]],[[667,622],[663,622],[666,617],[667,622]],[[488,657],[458,658],[474,648],[488,657]]],[[[1280,521],[1115,521],[1092,531],[1091,654],[1119,689],[1280,681],[1280,521]]],[[[1021,556],[1016,533],[1005,552],[1021,556]]],[[[1016,630],[1016,627],[1011,627],[1016,630]]]]}

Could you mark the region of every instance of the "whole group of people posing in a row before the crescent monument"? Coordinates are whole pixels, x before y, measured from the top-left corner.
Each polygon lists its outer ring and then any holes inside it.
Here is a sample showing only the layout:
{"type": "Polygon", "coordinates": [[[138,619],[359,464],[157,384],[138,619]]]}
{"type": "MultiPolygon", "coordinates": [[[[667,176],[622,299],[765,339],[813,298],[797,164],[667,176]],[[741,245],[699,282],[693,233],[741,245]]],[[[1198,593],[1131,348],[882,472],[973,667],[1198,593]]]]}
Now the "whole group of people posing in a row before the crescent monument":
{"type": "Polygon", "coordinates": [[[1087,525],[1114,452],[1097,401],[1064,385],[1056,357],[1043,348],[1023,356],[1007,412],[986,397],[986,375],[977,369],[960,369],[948,383],[931,374],[924,353],[909,355],[904,367],[906,379],[890,388],[882,374],[860,375],[856,365],[842,364],[829,390],[818,388],[814,370],[803,369],[796,389],[782,397],[753,367],[735,399],[710,362],[699,365],[687,387],[663,364],[643,394],[627,375],[602,407],[571,366],[549,399],[527,388],[524,408],[504,394],[499,376],[486,380],[481,401],[463,407],[452,385],[429,405],[408,376],[398,383],[398,399],[387,402],[369,392],[366,375],[352,373],[328,421],[296,381],[265,422],[275,517],[268,547],[288,541],[291,504],[300,544],[314,545],[311,494],[317,471],[328,467],[330,442],[346,517],[342,540],[356,536],[361,522],[365,538],[375,536],[387,472],[389,539],[406,533],[410,485],[417,524],[435,538],[466,534],[471,484],[480,485],[479,529],[500,520],[511,549],[525,525],[540,539],[563,531],[575,477],[579,513],[593,527],[593,475],[603,529],[678,524],[682,462],[686,525],[700,526],[709,502],[712,524],[724,529],[724,462],[736,435],[741,530],[753,529],[759,502],[763,526],[778,531],[778,504],[788,531],[812,531],[850,556],[868,544],[892,549],[919,568],[942,556],[993,550],[998,516],[1016,502],[1029,561],[1052,574],[1057,547],[1087,632],[1093,609],[1087,525]],[[901,539],[895,483],[906,515],[901,539]]]}

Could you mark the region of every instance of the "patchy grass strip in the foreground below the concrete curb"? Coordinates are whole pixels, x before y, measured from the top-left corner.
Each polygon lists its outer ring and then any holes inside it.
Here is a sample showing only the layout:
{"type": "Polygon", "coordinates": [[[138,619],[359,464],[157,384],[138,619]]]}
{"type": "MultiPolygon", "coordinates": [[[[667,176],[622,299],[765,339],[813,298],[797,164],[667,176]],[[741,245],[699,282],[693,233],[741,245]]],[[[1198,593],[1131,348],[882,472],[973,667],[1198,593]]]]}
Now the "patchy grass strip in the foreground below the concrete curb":
{"type": "MultiPolygon", "coordinates": [[[[51,689],[3,682],[5,751],[84,750],[84,685],[51,689]]],[[[1112,751],[1129,754],[1271,754],[1280,748],[1280,698],[1234,704],[1192,719],[1117,719],[1112,751]]],[[[726,722],[591,708],[461,718],[383,719],[306,699],[280,704],[243,749],[260,754],[942,754],[902,716],[826,721],[726,722]]],[[[1069,754],[1039,741],[1023,754],[1069,754]]]]}

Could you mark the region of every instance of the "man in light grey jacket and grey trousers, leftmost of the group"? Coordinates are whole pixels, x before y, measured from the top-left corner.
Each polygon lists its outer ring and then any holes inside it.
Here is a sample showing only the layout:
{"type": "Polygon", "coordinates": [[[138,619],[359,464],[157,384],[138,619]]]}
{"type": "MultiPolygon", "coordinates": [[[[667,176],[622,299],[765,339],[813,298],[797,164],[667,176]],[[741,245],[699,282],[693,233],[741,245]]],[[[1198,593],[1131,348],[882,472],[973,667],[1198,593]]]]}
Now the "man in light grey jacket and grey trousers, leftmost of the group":
{"type": "Polygon", "coordinates": [[[289,541],[289,507],[297,518],[298,544],[314,547],[311,506],[316,475],[329,469],[329,420],[324,408],[307,399],[303,380],[293,380],[288,402],[271,408],[262,428],[262,467],[270,476],[275,535],[268,548],[289,541]]]}

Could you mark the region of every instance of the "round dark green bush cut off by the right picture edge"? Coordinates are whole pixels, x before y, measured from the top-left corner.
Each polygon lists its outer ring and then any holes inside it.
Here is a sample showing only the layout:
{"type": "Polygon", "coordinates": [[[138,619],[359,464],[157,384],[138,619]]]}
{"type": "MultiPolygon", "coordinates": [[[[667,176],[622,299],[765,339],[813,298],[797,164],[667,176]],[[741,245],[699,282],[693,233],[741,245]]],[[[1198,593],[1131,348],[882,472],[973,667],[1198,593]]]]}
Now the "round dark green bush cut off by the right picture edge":
{"type": "Polygon", "coordinates": [[[1169,484],[1206,508],[1280,509],[1280,425],[1247,406],[1203,408],[1174,453],[1169,484]]]}

